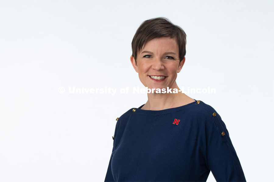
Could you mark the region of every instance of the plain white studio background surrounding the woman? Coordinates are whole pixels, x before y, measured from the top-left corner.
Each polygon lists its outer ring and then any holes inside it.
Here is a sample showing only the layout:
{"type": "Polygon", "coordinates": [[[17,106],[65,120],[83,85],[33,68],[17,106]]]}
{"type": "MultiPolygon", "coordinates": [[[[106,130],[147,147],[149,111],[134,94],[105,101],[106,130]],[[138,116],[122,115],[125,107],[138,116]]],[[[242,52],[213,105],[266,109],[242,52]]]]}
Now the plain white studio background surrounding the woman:
{"type": "Polygon", "coordinates": [[[187,95],[220,114],[247,181],[273,179],[273,1],[7,0],[0,17],[1,182],[104,181],[115,119],[147,100],[119,93],[144,88],[132,38],[156,17],[187,34],[178,86],[215,88],[187,95]]]}

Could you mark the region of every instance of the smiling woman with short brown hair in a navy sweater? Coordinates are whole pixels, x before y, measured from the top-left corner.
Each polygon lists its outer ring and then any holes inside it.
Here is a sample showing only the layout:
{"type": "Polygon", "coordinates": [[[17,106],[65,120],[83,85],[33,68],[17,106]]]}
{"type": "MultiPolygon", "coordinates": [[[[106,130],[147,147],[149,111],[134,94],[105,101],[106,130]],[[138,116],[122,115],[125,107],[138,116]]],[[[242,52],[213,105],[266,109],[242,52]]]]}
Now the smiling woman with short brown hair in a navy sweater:
{"type": "MultiPolygon", "coordinates": [[[[149,89],[179,89],[186,34],[166,18],[144,21],[132,40],[133,68],[149,89]]],[[[194,74],[197,72],[194,70],[194,74]]],[[[105,181],[246,181],[220,115],[184,93],[147,93],[117,118],[105,181]]]]}

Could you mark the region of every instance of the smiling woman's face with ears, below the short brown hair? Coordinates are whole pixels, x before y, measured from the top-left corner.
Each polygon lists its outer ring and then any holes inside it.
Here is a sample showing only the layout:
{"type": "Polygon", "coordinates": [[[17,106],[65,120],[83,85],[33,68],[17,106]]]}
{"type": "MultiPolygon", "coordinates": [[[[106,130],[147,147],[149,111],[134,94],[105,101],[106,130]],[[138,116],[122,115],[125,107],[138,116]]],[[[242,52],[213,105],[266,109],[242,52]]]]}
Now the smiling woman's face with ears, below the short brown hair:
{"type": "Polygon", "coordinates": [[[181,71],[185,58],[180,62],[176,39],[155,38],[147,42],[137,55],[137,65],[133,56],[132,66],[139,73],[142,84],[152,88],[175,88],[177,73],[181,71]]]}

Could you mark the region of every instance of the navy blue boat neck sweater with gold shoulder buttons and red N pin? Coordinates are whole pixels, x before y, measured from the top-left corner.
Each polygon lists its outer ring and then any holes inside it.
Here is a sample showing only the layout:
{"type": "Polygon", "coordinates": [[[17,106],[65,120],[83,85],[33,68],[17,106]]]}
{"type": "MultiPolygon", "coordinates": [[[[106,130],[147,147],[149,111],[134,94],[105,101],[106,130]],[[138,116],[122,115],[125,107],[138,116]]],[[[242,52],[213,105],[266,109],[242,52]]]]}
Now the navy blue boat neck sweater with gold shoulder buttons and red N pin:
{"type": "Polygon", "coordinates": [[[131,108],[114,130],[107,181],[246,181],[228,130],[213,107],[131,108]]]}

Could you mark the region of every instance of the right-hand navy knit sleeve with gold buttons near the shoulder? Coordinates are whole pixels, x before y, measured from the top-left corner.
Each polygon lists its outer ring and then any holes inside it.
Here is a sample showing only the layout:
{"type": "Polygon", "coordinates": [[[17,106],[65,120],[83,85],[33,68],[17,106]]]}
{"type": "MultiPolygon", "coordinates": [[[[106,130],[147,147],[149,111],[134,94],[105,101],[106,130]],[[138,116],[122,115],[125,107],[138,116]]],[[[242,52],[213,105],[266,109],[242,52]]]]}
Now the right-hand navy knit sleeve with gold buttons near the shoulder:
{"type": "Polygon", "coordinates": [[[208,168],[216,181],[246,181],[225,123],[216,111],[209,114],[205,125],[208,168]]]}

